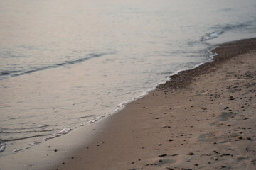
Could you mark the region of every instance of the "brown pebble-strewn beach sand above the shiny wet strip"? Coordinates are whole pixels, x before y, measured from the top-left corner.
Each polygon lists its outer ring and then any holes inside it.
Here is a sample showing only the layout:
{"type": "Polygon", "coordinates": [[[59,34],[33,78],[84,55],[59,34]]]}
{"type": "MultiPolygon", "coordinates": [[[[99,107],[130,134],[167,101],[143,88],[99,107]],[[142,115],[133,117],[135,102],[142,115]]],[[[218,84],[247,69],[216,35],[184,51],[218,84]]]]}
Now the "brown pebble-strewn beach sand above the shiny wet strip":
{"type": "Polygon", "coordinates": [[[53,169],[256,169],[256,39],[222,45],[95,128],[53,169]]]}

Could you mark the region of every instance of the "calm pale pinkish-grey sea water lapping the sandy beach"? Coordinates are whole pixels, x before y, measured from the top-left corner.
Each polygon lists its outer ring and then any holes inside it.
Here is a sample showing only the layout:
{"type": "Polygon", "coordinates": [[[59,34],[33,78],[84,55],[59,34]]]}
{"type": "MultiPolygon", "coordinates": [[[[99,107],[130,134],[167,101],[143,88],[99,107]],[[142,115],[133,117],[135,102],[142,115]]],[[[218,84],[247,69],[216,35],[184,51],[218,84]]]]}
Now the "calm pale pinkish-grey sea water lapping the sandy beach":
{"type": "Polygon", "coordinates": [[[110,115],[256,35],[256,1],[0,2],[0,157],[110,115]],[[54,134],[54,135],[53,135],[54,134]]]}

